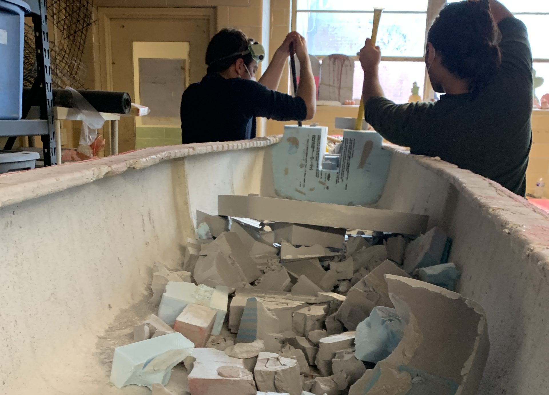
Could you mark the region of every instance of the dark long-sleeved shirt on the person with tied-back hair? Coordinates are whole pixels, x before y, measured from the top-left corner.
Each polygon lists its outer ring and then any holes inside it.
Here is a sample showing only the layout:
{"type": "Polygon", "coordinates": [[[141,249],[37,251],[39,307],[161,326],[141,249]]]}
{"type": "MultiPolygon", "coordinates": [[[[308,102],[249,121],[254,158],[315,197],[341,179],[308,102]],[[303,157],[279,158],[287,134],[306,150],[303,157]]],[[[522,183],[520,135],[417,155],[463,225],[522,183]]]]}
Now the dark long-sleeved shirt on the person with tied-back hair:
{"type": "Polygon", "coordinates": [[[477,98],[443,95],[436,103],[396,105],[375,97],[366,121],[385,139],[412,154],[442,160],[525,195],[532,131],[532,54],[522,21],[498,25],[502,64],[477,98]]]}

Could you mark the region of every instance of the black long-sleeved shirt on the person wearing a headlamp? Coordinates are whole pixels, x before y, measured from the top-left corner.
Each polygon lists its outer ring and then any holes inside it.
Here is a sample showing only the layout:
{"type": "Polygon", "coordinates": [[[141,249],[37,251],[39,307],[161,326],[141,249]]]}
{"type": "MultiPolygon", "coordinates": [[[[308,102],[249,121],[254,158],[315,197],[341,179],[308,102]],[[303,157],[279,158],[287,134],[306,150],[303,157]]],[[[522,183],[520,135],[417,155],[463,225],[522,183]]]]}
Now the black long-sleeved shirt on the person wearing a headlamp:
{"type": "Polygon", "coordinates": [[[183,144],[254,138],[255,117],[302,121],[306,116],[305,101],[299,97],[219,74],[207,74],[181,98],[183,144]]]}

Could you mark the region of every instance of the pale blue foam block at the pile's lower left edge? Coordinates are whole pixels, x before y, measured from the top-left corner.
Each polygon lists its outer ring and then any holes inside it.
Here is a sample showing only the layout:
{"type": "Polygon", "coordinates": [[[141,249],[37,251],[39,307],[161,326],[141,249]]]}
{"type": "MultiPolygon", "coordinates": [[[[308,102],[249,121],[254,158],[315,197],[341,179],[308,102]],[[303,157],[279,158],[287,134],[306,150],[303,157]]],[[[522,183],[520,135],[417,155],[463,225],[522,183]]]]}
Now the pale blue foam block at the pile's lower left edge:
{"type": "Polygon", "coordinates": [[[166,385],[175,365],[191,355],[194,343],[179,332],[116,347],[110,381],[117,387],[135,384],[152,390],[166,385]]]}

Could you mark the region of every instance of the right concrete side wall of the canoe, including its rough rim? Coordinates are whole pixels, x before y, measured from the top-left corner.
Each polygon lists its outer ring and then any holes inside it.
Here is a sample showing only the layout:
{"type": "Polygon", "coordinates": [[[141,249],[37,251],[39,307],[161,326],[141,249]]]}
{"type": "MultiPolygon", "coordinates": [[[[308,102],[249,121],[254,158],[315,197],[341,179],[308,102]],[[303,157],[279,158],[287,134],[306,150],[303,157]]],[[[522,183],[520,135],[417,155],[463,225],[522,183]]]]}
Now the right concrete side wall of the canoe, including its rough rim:
{"type": "Polygon", "coordinates": [[[430,216],[453,238],[457,291],[488,315],[480,395],[549,393],[549,215],[446,162],[396,153],[382,207],[430,216]]]}

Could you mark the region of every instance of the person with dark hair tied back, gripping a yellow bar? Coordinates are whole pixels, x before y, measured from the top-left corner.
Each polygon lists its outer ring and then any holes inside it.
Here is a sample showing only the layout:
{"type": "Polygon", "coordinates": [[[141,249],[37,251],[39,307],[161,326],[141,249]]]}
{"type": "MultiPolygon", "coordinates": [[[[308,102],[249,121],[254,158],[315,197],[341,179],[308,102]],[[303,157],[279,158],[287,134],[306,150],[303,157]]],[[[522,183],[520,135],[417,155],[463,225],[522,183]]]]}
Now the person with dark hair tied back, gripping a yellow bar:
{"type": "Polygon", "coordinates": [[[360,52],[365,118],[412,154],[439,156],[525,195],[531,148],[532,54],[528,32],[496,0],[447,4],[427,35],[435,103],[395,104],[379,83],[379,47],[360,52]]]}

